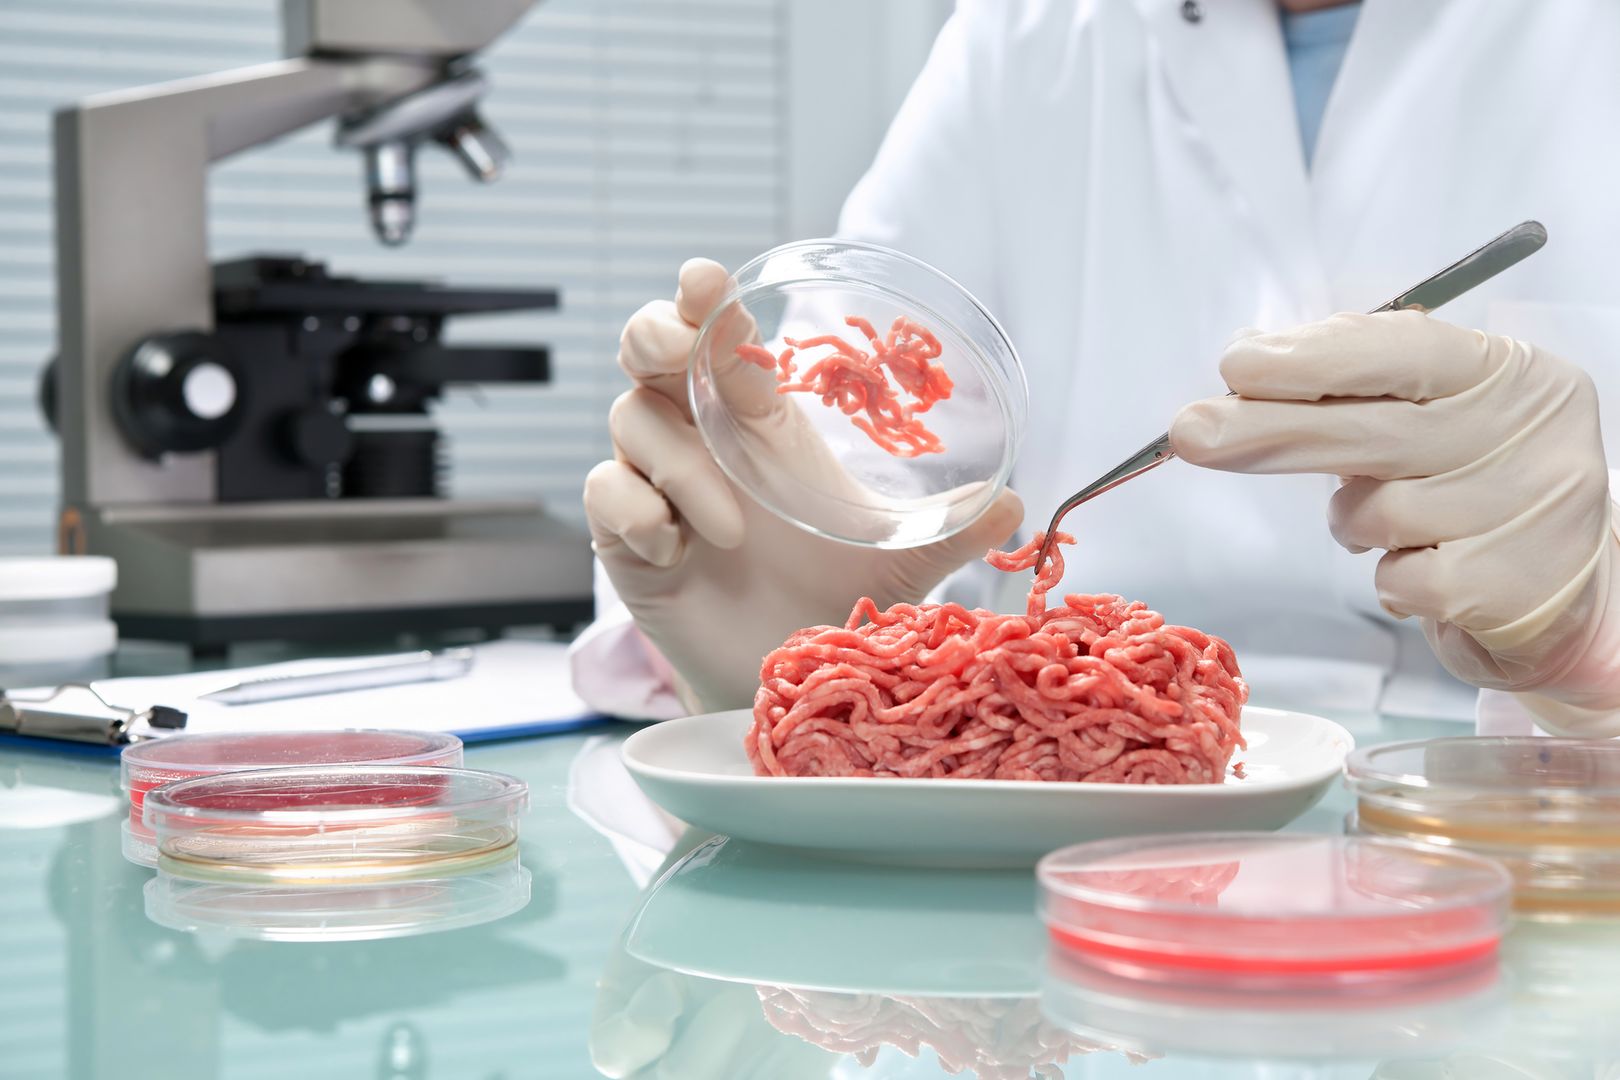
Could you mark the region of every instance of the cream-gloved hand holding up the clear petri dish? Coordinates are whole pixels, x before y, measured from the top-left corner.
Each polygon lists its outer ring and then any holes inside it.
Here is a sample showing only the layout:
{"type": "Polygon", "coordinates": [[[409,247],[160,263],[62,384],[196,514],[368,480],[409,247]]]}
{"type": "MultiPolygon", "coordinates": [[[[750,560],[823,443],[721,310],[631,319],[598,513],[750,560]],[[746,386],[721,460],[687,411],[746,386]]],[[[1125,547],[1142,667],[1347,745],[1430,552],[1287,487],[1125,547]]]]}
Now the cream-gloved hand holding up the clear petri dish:
{"type": "MultiPolygon", "coordinates": [[[[687,708],[727,709],[753,701],[760,662],[789,633],[842,625],[860,596],[880,607],[920,601],[948,573],[1001,546],[1022,520],[1004,492],[949,539],[904,551],[857,547],[807,533],[732,486],[710,457],[687,402],[687,358],[698,325],[727,288],[724,267],[692,259],[676,300],[659,300],[624,327],[619,364],[635,389],[614,402],[614,460],[585,481],[585,513],[608,576],[637,625],[684,680],[687,708]]],[[[739,313],[742,309],[737,309],[739,313]]],[[[745,342],[752,324],[723,327],[745,342]]],[[[726,355],[718,351],[718,355],[726,355]]],[[[735,363],[718,368],[735,413],[771,431],[781,468],[841,476],[825,442],[774,379],[735,363]]]]}

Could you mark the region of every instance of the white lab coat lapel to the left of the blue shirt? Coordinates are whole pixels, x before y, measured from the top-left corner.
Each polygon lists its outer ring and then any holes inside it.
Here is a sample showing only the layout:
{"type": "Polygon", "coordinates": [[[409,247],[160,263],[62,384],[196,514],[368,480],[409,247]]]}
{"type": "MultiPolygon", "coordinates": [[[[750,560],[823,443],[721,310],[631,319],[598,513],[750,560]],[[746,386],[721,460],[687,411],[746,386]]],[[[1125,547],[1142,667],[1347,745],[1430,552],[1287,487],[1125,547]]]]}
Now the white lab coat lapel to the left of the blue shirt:
{"type": "Polygon", "coordinates": [[[1327,287],[1315,251],[1311,191],[1275,0],[1136,0],[1157,44],[1157,74],[1209,151],[1212,180],[1249,225],[1277,287],[1301,309],[1327,287]]]}

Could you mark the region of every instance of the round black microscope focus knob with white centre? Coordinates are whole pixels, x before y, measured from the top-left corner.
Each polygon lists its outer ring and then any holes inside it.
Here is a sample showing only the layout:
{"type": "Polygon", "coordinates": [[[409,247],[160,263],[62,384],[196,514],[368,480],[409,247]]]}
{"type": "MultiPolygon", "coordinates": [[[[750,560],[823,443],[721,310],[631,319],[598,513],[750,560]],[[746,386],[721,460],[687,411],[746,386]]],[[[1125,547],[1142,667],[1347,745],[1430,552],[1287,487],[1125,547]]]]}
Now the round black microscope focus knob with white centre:
{"type": "Polygon", "coordinates": [[[139,342],[112,377],[112,411],[149,458],[220,445],[241,423],[241,368],[224,343],[198,330],[139,342]]]}

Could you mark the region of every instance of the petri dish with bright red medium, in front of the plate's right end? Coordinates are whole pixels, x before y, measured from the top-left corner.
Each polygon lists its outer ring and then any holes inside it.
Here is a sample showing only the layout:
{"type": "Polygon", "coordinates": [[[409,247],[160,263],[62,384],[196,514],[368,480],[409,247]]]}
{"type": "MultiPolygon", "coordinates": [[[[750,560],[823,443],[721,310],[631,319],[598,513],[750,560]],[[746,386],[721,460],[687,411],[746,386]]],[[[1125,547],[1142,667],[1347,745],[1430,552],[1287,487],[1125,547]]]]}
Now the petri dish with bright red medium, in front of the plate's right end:
{"type": "Polygon", "coordinates": [[[1184,983],[1387,983],[1489,962],[1510,891],[1464,852],[1272,832],[1079,844],[1035,873],[1059,949],[1184,983]]]}

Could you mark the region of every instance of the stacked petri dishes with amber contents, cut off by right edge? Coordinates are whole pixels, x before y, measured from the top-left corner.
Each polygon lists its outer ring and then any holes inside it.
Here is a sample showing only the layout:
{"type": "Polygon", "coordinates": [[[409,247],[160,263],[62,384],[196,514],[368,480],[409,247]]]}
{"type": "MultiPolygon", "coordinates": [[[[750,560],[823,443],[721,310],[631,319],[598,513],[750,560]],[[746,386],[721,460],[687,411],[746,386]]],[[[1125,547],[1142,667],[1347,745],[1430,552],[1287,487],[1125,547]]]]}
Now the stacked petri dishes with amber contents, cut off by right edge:
{"type": "Polygon", "coordinates": [[[1358,750],[1348,829],[1469,850],[1541,920],[1620,916],[1620,743],[1461,737],[1358,750]]]}

